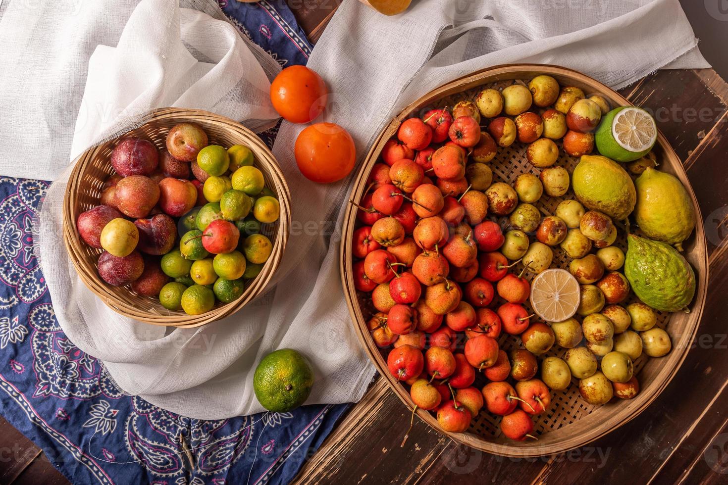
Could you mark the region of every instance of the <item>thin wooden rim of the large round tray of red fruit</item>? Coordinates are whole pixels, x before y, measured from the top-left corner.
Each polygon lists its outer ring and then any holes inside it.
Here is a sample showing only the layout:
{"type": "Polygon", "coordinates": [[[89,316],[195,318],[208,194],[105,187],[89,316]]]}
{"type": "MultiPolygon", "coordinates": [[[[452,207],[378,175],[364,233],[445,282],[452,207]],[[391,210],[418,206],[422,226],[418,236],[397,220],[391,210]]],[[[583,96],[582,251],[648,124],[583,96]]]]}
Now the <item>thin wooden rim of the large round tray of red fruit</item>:
{"type": "MultiPolygon", "coordinates": [[[[633,105],[633,103],[630,103],[629,100],[620,95],[618,92],[614,91],[614,89],[611,89],[601,82],[596,81],[596,79],[593,79],[590,76],[587,76],[584,73],[580,73],[579,71],[576,71],[574,69],[565,68],[560,65],[515,63],[495,65],[489,68],[483,68],[470,74],[460,76],[457,79],[442,84],[435,89],[432,89],[430,92],[422,95],[413,103],[405,106],[405,108],[397,113],[392,121],[390,121],[389,124],[381,129],[379,135],[374,138],[370,150],[365,156],[363,163],[360,165],[359,174],[357,175],[357,179],[355,180],[355,183],[352,186],[352,190],[349,193],[349,199],[357,201],[360,200],[361,196],[363,196],[363,193],[365,191],[365,182],[367,180],[368,174],[369,172],[371,172],[372,165],[379,158],[379,153],[381,152],[381,148],[383,147],[384,143],[389,140],[389,137],[395,134],[396,129],[399,127],[402,121],[407,119],[408,116],[416,111],[417,108],[428,105],[441,97],[445,97],[446,95],[451,95],[456,92],[464,92],[468,89],[472,89],[472,87],[477,84],[488,84],[495,81],[523,79],[524,77],[527,77],[524,76],[524,74],[528,71],[550,74],[552,76],[560,76],[562,78],[568,78],[572,80],[578,79],[578,82],[580,82],[581,84],[589,85],[591,92],[599,92],[603,95],[606,94],[609,98],[616,101],[620,105],[633,105]],[[520,76],[519,73],[521,73],[520,76]],[[470,87],[463,87],[468,84],[473,85],[470,87]]],[[[705,298],[707,294],[706,287],[708,283],[708,252],[703,228],[703,217],[700,214],[700,206],[697,204],[695,192],[693,191],[692,185],[690,185],[689,180],[687,179],[687,175],[679,157],[673,150],[668,140],[659,130],[657,135],[657,145],[660,145],[660,148],[662,148],[662,150],[665,152],[665,157],[669,159],[670,167],[673,167],[673,169],[676,171],[676,176],[686,187],[696,211],[695,246],[693,251],[697,253],[697,257],[699,258],[699,267],[695,269],[696,273],[700,275],[700,278],[698,278],[695,299],[693,300],[691,305],[692,314],[688,317],[689,320],[681,338],[681,343],[689,342],[690,340],[692,340],[692,338],[695,337],[695,334],[697,333],[697,326],[700,323],[700,318],[702,318],[703,316],[703,308],[705,307],[705,298]]],[[[344,237],[342,237],[341,239],[339,250],[341,284],[344,289],[344,297],[347,300],[349,316],[352,318],[352,323],[355,325],[355,329],[357,331],[357,336],[359,337],[360,343],[363,345],[363,348],[368,354],[370,361],[372,361],[376,369],[378,369],[379,373],[381,374],[381,378],[384,378],[386,380],[389,388],[391,388],[397,394],[397,397],[400,398],[400,401],[402,401],[408,409],[414,409],[414,403],[411,401],[409,393],[405,390],[405,388],[403,387],[403,385],[400,384],[399,381],[395,380],[394,377],[392,377],[391,373],[387,369],[387,364],[384,361],[384,358],[382,358],[379,351],[373,350],[373,342],[371,341],[371,337],[368,334],[368,331],[366,331],[366,321],[363,318],[363,313],[357,300],[356,289],[353,285],[353,260],[350,256],[352,248],[351,234],[355,228],[356,213],[357,211],[355,207],[352,207],[351,205],[347,207],[347,212],[344,215],[344,222],[342,225],[342,234],[344,235],[344,237]]],[[[638,414],[641,414],[641,412],[643,412],[650,404],[652,404],[657,396],[662,393],[662,390],[664,390],[669,382],[673,379],[675,374],[678,372],[678,369],[680,369],[685,358],[687,357],[688,350],[689,345],[675,345],[675,343],[673,342],[673,350],[668,355],[677,355],[676,361],[674,362],[673,366],[665,366],[665,369],[662,369],[660,371],[660,374],[658,376],[660,377],[659,382],[650,383],[650,385],[652,386],[650,393],[645,393],[643,390],[643,392],[638,394],[636,398],[630,399],[629,401],[623,401],[620,404],[625,404],[625,409],[620,409],[619,412],[612,413],[612,415],[608,416],[605,420],[603,420],[603,422],[588,429],[585,433],[579,434],[579,436],[563,439],[561,442],[559,442],[559,446],[556,446],[555,444],[548,446],[539,446],[539,444],[529,441],[518,442],[518,444],[515,444],[515,442],[514,444],[497,444],[494,441],[488,441],[486,440],[486,438],[470,433],[468,431],[466,431],[465,433],[448,433],[446,431],[443,431],[438,425],[435,417],[432,417],[432,414],[430,414],[430,412],[423,411],[422,409],[416,409],[416,414],[420,417],[420,419],[424,420],[424,422],[427,422],[427,424],[430,425],[432,428],[438,430],[439,433],[446,434],[450,438],[454,439],[454,441],[465,444],[467,446],[472,446],[475,449],[480,449],[483,452],[499,454],[507,457],[521,458],[539,457],[544,455],[567,452],[571,449],[578,448],[579,446],[585,446],[586,444],[589,444],[596,439],[601,438],[602,436],[606,436],[606,434],[611,433],[617,428],[620,428],[620,426],[632,420],[638,414]],[[627,409],[630,412],[626,412],[627,409]],[[618,420],[615,419],[615,415],[619,415],[620,418],[618,420]]],[[[563,427],[561,429],[565,428],[567,427],[563,427]]]]}

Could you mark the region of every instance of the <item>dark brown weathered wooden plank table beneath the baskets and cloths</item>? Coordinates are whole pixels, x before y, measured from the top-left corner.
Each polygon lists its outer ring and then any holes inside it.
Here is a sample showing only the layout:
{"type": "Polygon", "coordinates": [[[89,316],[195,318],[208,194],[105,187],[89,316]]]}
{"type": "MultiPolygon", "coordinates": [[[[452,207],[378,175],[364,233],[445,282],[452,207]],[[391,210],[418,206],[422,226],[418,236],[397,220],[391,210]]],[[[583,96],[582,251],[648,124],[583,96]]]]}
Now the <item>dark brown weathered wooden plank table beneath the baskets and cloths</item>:
{"type": "MultiPolygon", "coordinates": [[[[318,39],[339,0],[289,1],[318,39]],[[317,7],[320,6],[319,7],[317,7]]],[[[416,420],[383,380],[301,470],[308,484],[721,483],[728,481],[728,84],[712,69],[659,71],[622,89],[654,110],[684,167],[705,218],[711,285],[692,350],[646,412],[590,446],[516,460],[459,446],[416,420]],[[720,472],[723,473],[720,473],[720,472]]],[[[68,483],[41,450],[0,418],[0,484],[68,483]]]]}

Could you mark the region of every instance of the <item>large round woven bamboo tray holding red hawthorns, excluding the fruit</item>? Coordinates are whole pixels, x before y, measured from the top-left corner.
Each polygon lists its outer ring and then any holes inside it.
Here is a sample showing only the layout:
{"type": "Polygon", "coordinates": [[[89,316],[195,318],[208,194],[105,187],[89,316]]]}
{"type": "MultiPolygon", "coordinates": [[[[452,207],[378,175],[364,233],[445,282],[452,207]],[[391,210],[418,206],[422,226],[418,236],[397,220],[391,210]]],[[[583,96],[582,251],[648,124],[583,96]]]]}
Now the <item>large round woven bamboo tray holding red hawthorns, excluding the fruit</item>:
{"type": "MultiPolygon", "coordinates": [[[[529,79],[541,73],[554,76],[561,86],[581,87],[587,95],[601,94],[612,103],[612,106],[631,104],[625,97],[604,86],[604,84],[577,71],[553,65],[500,65],[472,73],[424,95],[404,108],[384,128],[363,162],[359,176],[352,188],[351,199],[357,202],[361,200],[366,190],[368,175],[373,164],[379,159],[379,153],[381,153],[384,143],[387,143],[389,138],[395,136],[403,120],[410,116],[422,116],[424,108],[452,106],[456,100],[462,100],[463,98],[472,100],[475,94],[485,87],[502,89],[513,83],[525,84],[529,79]]],[[[515,177],[524,172],[536,174],[539,172],[539,169],[532,167],[526,161],[525,150],[526,145],[520,143],[515,143],[506,149],[499,149],[496,159],[491,161],[490,164],[494,172],[494,182],[513,183],[515,177]]],[[[700,316],[703,313],[705,287],[708,281],[708,260],[706,257],[707,249],[703,231],[703,218],[700,216],[695,193],[690,187],[680,159],[678,159],[678,156],[676,156],[676,153],[661,133],[658,136],[654,152],[658,161],[660,161],[660,169],[676,175],[687,188],[697,214],[695,231],[684,244],[683,252],[697,274],[695,299],[690,305],[689,313],[662,313],[658,318],[658,326],[666,329],[670,334],[673,350],[662,358],[647,358],[643,354],[637,359],[635,374],[640,382],[641,391],[636,398],[631,400],[622,401],[614,398],[604,406],[592,406],[580,398],[576,380],[572,382],[567,390],[552,392],[550,408],[544,414],[534,417],[534,425],[538,435],[537,441],[515,442],[505,438],[499,430],[499,417],[495,417],[486,411],[480,412],[478,417],[475,417],[466,433],[447,433],[455,441],[485,452],[510,457],[537,457],[566,452],[569,449],[584,446],[636,417],[657,398],[672,380],[687,355],[690,343],[697,332],[700,316]]],[[[562,151],[557,164],[566,167],[571,172],[577,162],[577,159],[565,156],[562,151]]],[[[573,198],[573,192],[570,189],[563,198],[542,197],[537,203],[537,207],[543,214],[550,215],[553,214],[558,202],[571,198],[573,198]]],[[[363,298],[363,294],[357,294],[352,274],[352,232],[355,230],[356,225],[356,208],[351,206],[344,216],[342,228],[344,238],[341,241],[341,279],[349,305],[349,313],[355,322],[357,334],[365,350],[373,364],[379,369],[381,378],[387,380],[392,390],[397,393],[397,396],[409,409],[413,409],[414,403],[410,399],[407,388],[397,382],[387,370],[387,362],[384,358],[386,354],[383,350],[377,348],[366,326],[368,317],[373,313],[373,308],[371,302],[367,302],[363,298]]],[[[625,234],[620,232],[616,244],[622,249],[626,248],[625,239],[625,234]]],[[[568,262],[569,258],[563,254],[561,249],[556,248],[552,267],[563,268],[568,265],[568,262]]],[[[635,300],[634,297],[633,300],[635,300]]],[[[630,301],[628,300],[628,302],[630,301]]],[[[625,302],[625,304],[628,302],[625,302]]],[[[528,302],[526,302],[526,305],[528,306],[528,302]]],[[[501,348],[508,350],[520,345],[520,338],[503,335],[499,340],[499,344],[501,348]]],[[[565,349],[555,346],[546,356],[562,356],[564,352],[565,349]]],[[[475,381],[476,387],[480,387],[486,382],[484,379],[482,381],[480,379],[483,379],[483,377],[478,377],[478,380],[475,381]]],[[[421,409],[416,412],[428,425],[440,430],[440,426],[432,414],[421,409]]],[[[404,433],[404,430],[402,430],[402,433],[404,433]]]]}

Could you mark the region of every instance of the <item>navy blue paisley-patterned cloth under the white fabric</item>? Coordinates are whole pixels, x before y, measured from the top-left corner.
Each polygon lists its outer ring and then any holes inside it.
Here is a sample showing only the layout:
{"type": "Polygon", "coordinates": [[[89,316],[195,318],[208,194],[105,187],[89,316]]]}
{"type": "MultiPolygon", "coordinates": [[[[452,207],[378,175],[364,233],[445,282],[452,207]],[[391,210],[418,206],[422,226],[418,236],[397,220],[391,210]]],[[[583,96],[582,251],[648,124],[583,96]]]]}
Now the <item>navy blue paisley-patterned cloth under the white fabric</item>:
{"type": "MultiPolygon", "coordinates": [[[[306,63],[311,44],[285,2],[220,4],[282,66],[306,63]]],[[[48,185],[0,176],[0,414],[74,484],[288,483],[349,405],[196,420],[121,393],[63,334],[33,256],[48,185]]]]}

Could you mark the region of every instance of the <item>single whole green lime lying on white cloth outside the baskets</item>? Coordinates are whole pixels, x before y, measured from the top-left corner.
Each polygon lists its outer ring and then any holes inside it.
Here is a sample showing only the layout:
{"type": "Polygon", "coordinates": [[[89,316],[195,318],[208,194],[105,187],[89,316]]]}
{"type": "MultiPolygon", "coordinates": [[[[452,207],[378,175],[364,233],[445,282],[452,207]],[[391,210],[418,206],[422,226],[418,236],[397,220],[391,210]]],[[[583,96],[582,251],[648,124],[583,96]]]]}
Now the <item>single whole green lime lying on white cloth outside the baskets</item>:
{"type": "Polygon", "coordinates": [[[253,374],[253,390],[258,402],[273,412],[288,412],[304,404],[313,385],[311,365],[291,348],[269,353],[253,374]]]}

